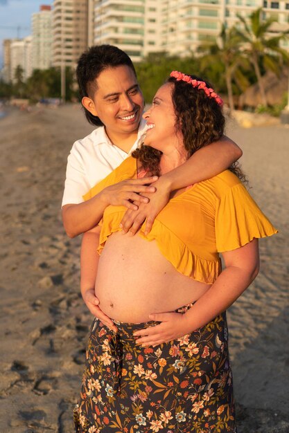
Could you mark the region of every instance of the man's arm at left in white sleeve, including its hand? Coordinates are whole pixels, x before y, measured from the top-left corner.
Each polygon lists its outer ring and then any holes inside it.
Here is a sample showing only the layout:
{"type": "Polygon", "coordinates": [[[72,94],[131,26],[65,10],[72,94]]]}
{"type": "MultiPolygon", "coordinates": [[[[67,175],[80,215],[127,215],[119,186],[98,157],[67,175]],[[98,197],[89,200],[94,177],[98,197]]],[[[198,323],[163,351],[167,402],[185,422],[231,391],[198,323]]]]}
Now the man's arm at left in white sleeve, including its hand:
{"type": "MultiPolygon", "coordinates": [[[[144,180],[136,182],[130,180],[120,183],[110,190],[105,190],[102,194],[98,194],[93,199],[84,203],[83,196],[91,189],[89,183],[91,179],[88,178],[87,165],[91,163],[92,158],[93,161],[96,161],[96,172],[101,167],[101,164],[100,167],[97,166],[96,155],[90,151],[93,144],[89,137],[77,140],[74,142],[67,158],[65,186],[62,198],[62,218],[64,229],[69,237],[75,237],[95,227],[103,216],[103,211],[107,205],[123,204],[129,209],[137,209],[137,205],[134,205],[132,201],[146,203],[148,199],[139,194],[155,191],[155,188],[151,190],[147,187],[144,180]]],[[[96,177],[99,181],[101,181],[101,174],[103,174],[103,178],[106,178],[107,174],[107,177],[110,176],[109,167],[110,165],[108,164],[104,172],[100,169],[96,177]]],[[[155,180],[151,180],[151,182],[155,180]]],[[[110,183],[103,185],[101,189],[103,190],[108,185],[116,184],[116,182],[116,179],[112,176],[110,183]]],[[[148,181],[148,183],[150,182],[148,181]]]]}

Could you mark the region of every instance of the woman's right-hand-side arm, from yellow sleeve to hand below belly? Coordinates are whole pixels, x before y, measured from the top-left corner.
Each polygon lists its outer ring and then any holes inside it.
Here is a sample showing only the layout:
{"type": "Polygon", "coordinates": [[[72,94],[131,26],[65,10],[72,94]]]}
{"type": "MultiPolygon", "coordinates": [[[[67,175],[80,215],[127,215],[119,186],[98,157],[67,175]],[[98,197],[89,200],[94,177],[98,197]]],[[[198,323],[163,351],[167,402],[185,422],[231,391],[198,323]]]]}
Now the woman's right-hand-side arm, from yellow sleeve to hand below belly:
{"type": "Polygon", "coordinates": [[[226,268],[209,290],[184,314],[150,315],[150,320],[161,323],[134,333],[141,337],[137,343],[150,346],[182,337],[209,323],[238,299],[259,273],[258,240],[222,255],[226,268]]]}

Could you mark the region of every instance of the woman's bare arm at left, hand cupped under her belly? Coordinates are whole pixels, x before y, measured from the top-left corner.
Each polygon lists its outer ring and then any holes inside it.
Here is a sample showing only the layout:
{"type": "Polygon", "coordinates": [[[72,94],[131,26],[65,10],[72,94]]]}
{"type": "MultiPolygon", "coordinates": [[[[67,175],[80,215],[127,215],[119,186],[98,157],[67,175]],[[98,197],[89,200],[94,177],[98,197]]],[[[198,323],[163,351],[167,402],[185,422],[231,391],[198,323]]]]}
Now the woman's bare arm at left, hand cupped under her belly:
{"type": "Polygon", "coordinates": [[[82,237],[80,252],[80,291],[82,298],[94,316],[98,317],[110,329],[117,331],[114,322],[100,310],[99,300],[95,294],[96,274],[98,266],[98,252],[96,248],[99,243],[100,228],[95,228],[85,232],[82,237]]]}

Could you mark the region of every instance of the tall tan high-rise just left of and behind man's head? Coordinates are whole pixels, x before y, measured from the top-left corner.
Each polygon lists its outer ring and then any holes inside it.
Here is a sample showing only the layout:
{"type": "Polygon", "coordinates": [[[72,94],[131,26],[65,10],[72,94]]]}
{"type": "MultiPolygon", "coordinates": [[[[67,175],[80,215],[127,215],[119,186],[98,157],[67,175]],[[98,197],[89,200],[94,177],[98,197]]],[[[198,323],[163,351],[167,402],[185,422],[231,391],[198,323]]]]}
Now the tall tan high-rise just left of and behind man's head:
{"type": "Polygon", "coordinates": [[[74,66],[87,48],[88,10],[89,0],[53,1],[53,66],[74,66]]]}

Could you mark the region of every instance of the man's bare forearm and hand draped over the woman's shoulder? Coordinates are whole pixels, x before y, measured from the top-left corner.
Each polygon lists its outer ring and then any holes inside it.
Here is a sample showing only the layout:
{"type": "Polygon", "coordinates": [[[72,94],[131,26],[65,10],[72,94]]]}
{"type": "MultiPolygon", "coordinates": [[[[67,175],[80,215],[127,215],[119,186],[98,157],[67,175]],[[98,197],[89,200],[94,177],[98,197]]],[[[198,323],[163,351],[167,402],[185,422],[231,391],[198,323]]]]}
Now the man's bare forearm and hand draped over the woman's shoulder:
{"type": "Polygon", "coordinates": [[[124,232],[135,234],[146,220],[146,234],[150,232],[155,217],[168,203],[170,192],[193,185],[223,172],[242,156],[238,145],[228,137],[211,143],[198,151],[186,163],[161,176],[152,185],[157,191],[146,194],[149,203],[139,203],[138,210],[127,210],[121,226],[124,232]]]}

